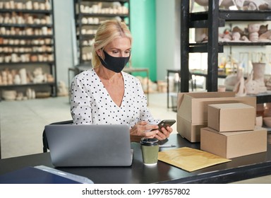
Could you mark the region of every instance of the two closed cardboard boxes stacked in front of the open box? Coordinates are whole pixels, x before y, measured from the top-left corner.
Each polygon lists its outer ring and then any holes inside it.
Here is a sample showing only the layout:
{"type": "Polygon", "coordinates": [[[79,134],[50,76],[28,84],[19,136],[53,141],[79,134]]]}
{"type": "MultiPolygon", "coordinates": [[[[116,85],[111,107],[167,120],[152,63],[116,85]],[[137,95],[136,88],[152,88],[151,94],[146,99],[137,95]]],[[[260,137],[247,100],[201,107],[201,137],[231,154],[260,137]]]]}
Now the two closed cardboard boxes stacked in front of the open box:
{"type": "Polygon", "coordinates": [[[208,105],[200,149],[224,158],[267,151],[267,130],[255,127],[255,108],[243,103],[208,105]]]}

